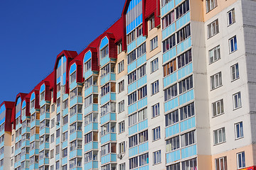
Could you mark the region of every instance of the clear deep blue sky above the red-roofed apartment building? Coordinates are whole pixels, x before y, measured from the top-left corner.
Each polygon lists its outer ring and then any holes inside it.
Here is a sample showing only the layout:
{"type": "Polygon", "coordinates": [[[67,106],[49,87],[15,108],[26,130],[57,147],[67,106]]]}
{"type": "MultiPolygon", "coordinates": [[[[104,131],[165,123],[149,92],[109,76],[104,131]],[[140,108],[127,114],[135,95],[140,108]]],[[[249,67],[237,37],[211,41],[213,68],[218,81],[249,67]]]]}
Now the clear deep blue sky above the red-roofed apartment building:
{"type": "Polygon", "coordinates": [[[0,104],[29,93],[62,50],[78,54],[121,16],[124,0],[1,0],[0,104]]]}

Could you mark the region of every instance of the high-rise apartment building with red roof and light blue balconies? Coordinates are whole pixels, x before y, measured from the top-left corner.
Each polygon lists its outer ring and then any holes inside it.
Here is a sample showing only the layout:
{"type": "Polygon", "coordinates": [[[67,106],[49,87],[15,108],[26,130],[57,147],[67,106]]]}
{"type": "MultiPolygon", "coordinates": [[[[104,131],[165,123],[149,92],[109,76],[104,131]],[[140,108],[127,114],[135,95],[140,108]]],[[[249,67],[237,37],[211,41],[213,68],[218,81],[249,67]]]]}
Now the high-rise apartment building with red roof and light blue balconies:
{"type": "Polygon", "coordinates": [[[255,64],[255,0],[127,0],[1,103],[0,170],[256,169],[255,64]]]}

